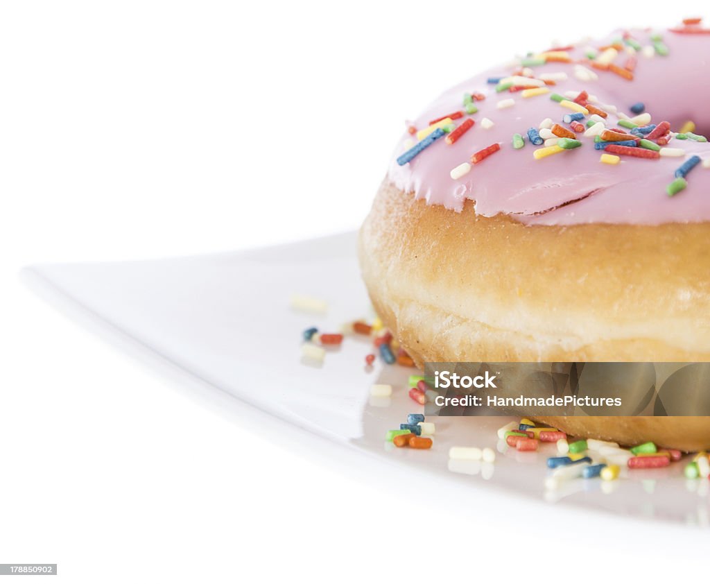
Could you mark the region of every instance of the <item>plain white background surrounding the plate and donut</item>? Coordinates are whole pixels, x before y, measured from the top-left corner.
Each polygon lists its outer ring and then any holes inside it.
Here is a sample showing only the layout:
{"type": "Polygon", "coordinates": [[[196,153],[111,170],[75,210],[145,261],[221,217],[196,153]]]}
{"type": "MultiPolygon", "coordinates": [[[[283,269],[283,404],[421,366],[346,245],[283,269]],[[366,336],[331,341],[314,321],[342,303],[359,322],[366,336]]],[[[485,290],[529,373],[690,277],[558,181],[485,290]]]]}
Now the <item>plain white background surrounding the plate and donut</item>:
{"type": "MultiPolygon", "coordinates": [[[[564,526],[514,546],[505,534],[524,517],[437,516],[415,485],[253,433],[16,274],[356,227],[403,120],[445,87],[552,40],[670,26],[705,4],[3,3],[0,562],[57,562],[67,582],[447,581],[444,561],[486,581],[579,575],[583,558],[631,569],[613,533],[591,558],[560,547],[564,526]],[[442,557],[448,546],[463,558],[442,557]]],[[[656,575],[681,561],[654,557],[656,575]]]]}

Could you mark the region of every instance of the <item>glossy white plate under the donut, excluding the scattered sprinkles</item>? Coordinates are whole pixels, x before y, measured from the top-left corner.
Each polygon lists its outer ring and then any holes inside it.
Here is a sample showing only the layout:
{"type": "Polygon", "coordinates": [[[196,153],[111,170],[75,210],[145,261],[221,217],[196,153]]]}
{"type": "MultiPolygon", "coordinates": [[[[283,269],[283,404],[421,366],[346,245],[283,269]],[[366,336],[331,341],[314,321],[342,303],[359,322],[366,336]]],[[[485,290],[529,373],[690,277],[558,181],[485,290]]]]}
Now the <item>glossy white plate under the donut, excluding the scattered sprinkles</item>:
{"type": "Polygon", "coordinates": [[[89,315],[84,322],[103,322],[109,325],[104,330],[131,339],[138,352],[160,355],[269,416],[339,443],[345,447],[342,453],[400,463],[422,485],[436,489],[432,493],[482,493],[491,502],[515,505],[528,514],[537,509],[540,517],[552,509],[567,514],[577,509],[586,512],[587,521],[589,512],[605,511],[664,520],[665,525],[709,524],[709,481],[685,480],[683,463],[625,472],[622,480],[604,485],[574,480],[562,490],[546,492],[545,459],[555,447],[518,453],[499,444],[496,428],[510,418],[434,418],[437,433],[431,450],[386,443],[388,429],[398,428],[407,413],[421,410],[407,394],[406,379],[413,369],[383,367],[378,360],[366,371],[364,356],[371,346],[357,336],[346,337],[341,348],[330,351],[322,367],[300,359],[305,328],[337,330],[346,320],[368,315],[352,233],[242,253],[35,266],[26,275],[54,301],[89,315]],[[292,293],[327,299],[329,312],[319,317],[290,310],[292,293]],[[391,401],[368,399],[374,382],[395,386],[391,401]],[[452,465],[447,458],[451,445],[490,446],[498,459],[494,465],[452,465]]]}

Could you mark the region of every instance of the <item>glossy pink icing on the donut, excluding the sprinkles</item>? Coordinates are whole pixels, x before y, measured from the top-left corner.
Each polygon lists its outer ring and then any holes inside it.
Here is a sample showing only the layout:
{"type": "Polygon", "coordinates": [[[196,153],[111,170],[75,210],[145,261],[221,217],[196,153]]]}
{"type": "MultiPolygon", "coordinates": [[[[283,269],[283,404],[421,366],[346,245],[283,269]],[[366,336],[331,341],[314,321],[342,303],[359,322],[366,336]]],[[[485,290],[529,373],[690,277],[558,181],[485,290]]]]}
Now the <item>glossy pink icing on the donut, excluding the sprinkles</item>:
{"type": "MultiPolygon", "coordinates": [[[[650,44],[648,31],[630,31],[642,45],[650,44]]],[[[591,46],[605,45],[617,32],[591,46]]],[[[643,102],[652,115],[652,123],[668,120],[678,131],[689,119],[697,124],[696,134],[710,130],[710,108],[704,103],[710,95],[710,35],[678,34],[664,31],[663,43],[670,54],[647,58],[638,53],[635,78],[631,81],[609,71],[594,70],[599,79],[582,82],[574,75],[574,65],[547,63],[533,67],[535,75],[566,72],[567,80],[557,82],[550,92],[586,90],[601,104],[613,104],[627,115],[631,104],[643,102]]],[[[584,45],[586,46],[586,45],[584,45]]],[[[574,60],[584,58],[583,46],[569,50],[574,60]]],[[[620,51],[615,63],[622,65],[628,55],[620,51]]],[[[585,65],[589,67],[589,65],[585,65]]],[[[671,139],[668,147],[683,148],[684,158],[644,160],[622,156],[616,166],[599,162],[602,151],[594,149],[594,139],[579,138],[582,146],[554,156],[535,160],[533,146],[526,131],[537,128],[540,121],[552,118],[562,126],[562,116],[570,113],[550,94],[523,98],[520,92],[496,93],[488,77],[512,75],[515,67],[498,67],[476,75],[442,94],[413,124],[418,129],[449,112],[462,110],[465,92],[481,92],[486,99],[475,102],[479,112],[470,117],[476,121],[455,144],[439,139],[404,166],[393,160],[388,176],[398,188],[414,192],[430,204],[461,210],[465,199],[475,201],[476,213],[492,217],[503,213],[529,225],[573,225],[578,223],[640,223],[657,225],[667,222],[701,222],[710,220],[710,170],[699,165],[688,175],[688,186],[670,198],[665,188],[674,171],[692,154],[710,157],[709,143],[671,139]],[[508,109],[496,109],[501,99],[515,99],[508,109]],[[481,119],[494,122],[491,129],[481,126],[481,119]],[[525,146],[513,149],[513,134],[525,136],[525,146]],[[501,151],[476,164],[463,177],[454,180],[452,168],[470,162],[471,154],[495,142],[501,151]]],[[[464,119],[469,116],[464,116],[464,119]]],[[[609,114],[607,126],[616,126],[617,118],[609,114]]],[[[462,120],[456,120],[459,124],[462,120]]],[[[586,121],[586,120],[585,120],[586,121]]],[[[581,136],[581,134],[579,134],[581,136]]],[[[406,150],[405,134],[393,158],[406,150]]]]}

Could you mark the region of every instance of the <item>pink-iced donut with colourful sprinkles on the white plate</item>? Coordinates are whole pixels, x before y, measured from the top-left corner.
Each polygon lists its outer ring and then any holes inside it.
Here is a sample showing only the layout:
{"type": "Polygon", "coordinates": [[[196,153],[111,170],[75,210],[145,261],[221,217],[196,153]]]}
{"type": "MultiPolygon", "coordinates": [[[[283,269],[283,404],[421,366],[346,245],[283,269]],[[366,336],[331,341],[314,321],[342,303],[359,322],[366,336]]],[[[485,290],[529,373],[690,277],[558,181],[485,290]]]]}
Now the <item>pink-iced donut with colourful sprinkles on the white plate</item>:
{"type": "MultiPolygon", "coordinates": [[[[530,53],[413,121],[359,232],[376,312],[425,362],[710,359],[710,29],[530,53]]],[[[553,417],[710,448],[708,417],[553,417]]]]}

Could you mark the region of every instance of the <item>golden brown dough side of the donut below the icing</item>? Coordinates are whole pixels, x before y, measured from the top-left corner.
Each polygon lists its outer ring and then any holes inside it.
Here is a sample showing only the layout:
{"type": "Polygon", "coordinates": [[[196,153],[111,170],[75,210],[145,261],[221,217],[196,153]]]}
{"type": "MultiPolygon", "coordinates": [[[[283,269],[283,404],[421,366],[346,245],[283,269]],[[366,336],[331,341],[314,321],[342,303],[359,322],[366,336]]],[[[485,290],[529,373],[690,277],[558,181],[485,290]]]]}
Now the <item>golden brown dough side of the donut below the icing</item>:
{"type": "MultiPolygon", "coordinates": [[[[378,314],[426,361],[710,359],[710,224],[525,226],[386,180],[360,232],[378,314]]],[[[552,423],[552,418],[547,418],[552,423]]],[[[573,435],[710,448],[710,418],[555,418],[573,435]],[[692,436],[683,438],[683,428],[692,436]]]]}

